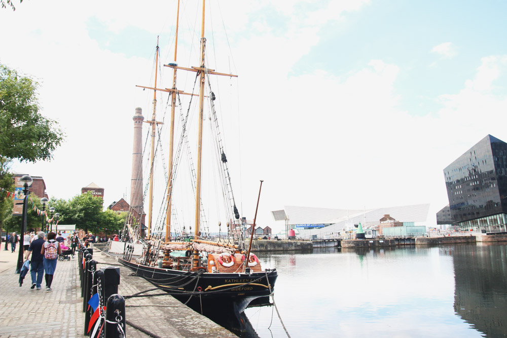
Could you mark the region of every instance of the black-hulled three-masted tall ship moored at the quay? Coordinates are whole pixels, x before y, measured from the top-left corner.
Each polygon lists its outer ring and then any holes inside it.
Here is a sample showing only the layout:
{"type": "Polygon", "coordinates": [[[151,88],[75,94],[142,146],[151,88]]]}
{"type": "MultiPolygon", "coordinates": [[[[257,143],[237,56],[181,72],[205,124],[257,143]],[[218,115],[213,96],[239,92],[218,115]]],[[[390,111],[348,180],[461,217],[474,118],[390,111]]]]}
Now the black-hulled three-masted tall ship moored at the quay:
{"type": "MultiPolygon", "coordinates": [[[[142,201],[137,203],[131,201],[133,207],[130,217],[123,231],[124,250],[123,256],[119,259],[121,264],[130,268],[135,274],[150,281],[156,287],[173,295],[182,303],[188,305],[195,311],[209,317],[212,320],[219,319],[224,313],[234,313],[239,319],[243,310],[250,304],[265,302],[273,293],[277,278],[276,269],[264,269],[262,262],[251,251],[251,241],[255,232],[257,208],[250,234],[247,235],[244,221],[240,217],[236,200],[232,189],[232,179],[229,170],[229,161],[226,156],[225,142],[221,135],[220,118],[215,107],[216,96],[212,90],[211,77],[235,78],[235,74],[218,72],[210,69],[207,65],[206,38],[204,36],[205,23],[205,1],[202,1],[201,29],[200,29],[200,51],[198,66],[183,67],[176,62],[176,51],[178,43],[178,25],[176,24],[174,38],[174,59],[165,67],[172,68],[172,88],[158,88],[158,65],[160,60],[159,46],[157,42],[155,57],[155,84],[153,87],[138,86],[143,89],[153,90],[153,113],[150,123],[151,142],[149,155],[149,180],[145,187],[137,184],[132,189],[142,189],[142,201]],[[189,72],[195,77],[194,89],[191,92],[179,90],[176,86],[176,74],[189,72]],[[198,88],[197,88],[198,87],[198,88]],[[168,166],[165,182],[156,182],[154,178],[154,164],[157,149],[160,147],[160,122],[156,121],[157,93],[164,93],[170,102],[170,125],[168,127],[168,166]],[[188,109],[183,108],[182,99],[185,96],[189,101],[188,109]],[[198,108],[192,110],[191,104],[197,103],[198,108]],[[176,106],[180,107],[179,119],[175,116],[176,106]],[[196,123],[193,129],[189,116],[196,111],[196,123]],[[213,157],[216,168],[206,167],[206,177],[215,173],[218,178],[213,180],[220,182],[223,197],[223,210],[225,216],[224,236],[211,238],[205,220],[205,210],[202,198],[203,186],[203,153],[205,143],[203,142],[203,121],[209,125],[214,136],[207,148],[213,149],[213,157]],[[178,125],[176,126],[176,122],[178,125]],[[178,132],[176,132],[178,131],[178,132]],[[196,132],[196,133],[195,133],[196,132]],[[175,208],[173,199],[176,187],[183,188],[183,183],[176,180],[178,168],[182,164],[182,154],[190,154],[189,138],[196,134],[196,164],[194,166],[192,156],[188,156],[186,162],[190,168],[190,184],[187,184],[187,192],[194,196],[193,199],[193,221],[180,222],[175,225],[175,208]],[[174,145],[175,139],[178,141],[174,145]],[[190,159],[189,159],[190,158],[190,159]],[[162,216],[154,220],[154,190],[161,190],[163,185],[163,203],[160,208],[162,216]],[[146,216],[148,218],[146,230],[141,224],[141,217],[144,210],[143,205],[148,202],[146,216]],[[135,206],[138,209],[135,210],[135,206]],[[177,229],[176,229],[177,227],[177,229]],[[193,230],[193,231],[192,231],[193,230]],[[225,311],[225,312],[224,312],[225,311]],[[232,311],[232,312],[229,312],[232,311]],[[215,317],[216,316],[216,317],[215,317]]],[[[179,2],[177,7],[177,18],[179,21],[179,2]]],[[[163,87],[163,86],[160,86],[163,87]]],[[[168,125],[164,122],[165,125],[168,125]]],[[[211,132],[210,132],[211,133],[211,132]]],[[[147,139],[148,148],[148,139],[147,139]]],[[[147,151],[148,152],[148,151],[147,151]]],[[[133,168],[134,172],[134,168],[133,168]]],[[[178,177],[179,178],[179,177],[178,177]]],[[[142,181],[142,178],[141,178],[142,181]]],[[[260,182],[259,197],[261,196],[262,181],[260,182]]],[[[138,191],[139,192],[139,191],[138,191]]],[[[185,203],[185,202],[183,202],[185,203]]],[[[216,202],[218,205],[218,202],[216,202]]],[[[253,210],[252,210],[253,211],[253,210]]],[[[216,217],[219,229],[222,229],[220,212],[211,213],[216,217]]],[[[221,230],[220,230],[221,232],[221,230]]],[[[119,244],[119,243],[118,243],[119,244]]],[[[222,318],[223,319],[223,318],[222,318]]],[[[215,320],[216,321],[216,320],[215,320]]]]}

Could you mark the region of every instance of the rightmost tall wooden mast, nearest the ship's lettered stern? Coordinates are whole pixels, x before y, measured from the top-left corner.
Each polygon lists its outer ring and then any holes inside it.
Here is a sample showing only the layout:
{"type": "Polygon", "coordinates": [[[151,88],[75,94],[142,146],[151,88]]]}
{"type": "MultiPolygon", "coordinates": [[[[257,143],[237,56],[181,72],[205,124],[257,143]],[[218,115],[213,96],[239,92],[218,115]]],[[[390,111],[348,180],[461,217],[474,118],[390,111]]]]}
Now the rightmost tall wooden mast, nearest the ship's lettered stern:
{"type": "MultiPolygon", "coordinates": [[[[194,239],[199,239],[199,226],[200,226],[200,205],[201,205],[201,158],[202,158],[202,120],[204,117],[204,48],[206,47],[206,39],[204,38],[204,0],[202,0],[202,19],[201,19],[201,71],[200,71],[200,86],[199,86],[199,131],[197,134],[197,176],[196,176],[196,190],[195,190],[195,224],[194,224],[194,239]]],[[[193,267],[199,265],[199,251],[194,250],[193,267]]]]}

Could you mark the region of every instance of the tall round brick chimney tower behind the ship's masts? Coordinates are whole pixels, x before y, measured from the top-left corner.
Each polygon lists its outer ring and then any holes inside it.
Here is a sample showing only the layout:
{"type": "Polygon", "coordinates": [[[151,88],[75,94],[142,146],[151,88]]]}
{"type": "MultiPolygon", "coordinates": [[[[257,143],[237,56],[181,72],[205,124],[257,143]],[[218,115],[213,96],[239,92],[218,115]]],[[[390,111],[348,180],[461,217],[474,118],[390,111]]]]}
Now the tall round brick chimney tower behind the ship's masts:
{"type": "Polygon", "coordinates": [[[135,108],[134,145],[132,147],[132,179],[130,181],[130,206],[137,212],[143,211],[142,205],[142,109],[135,108]]]}

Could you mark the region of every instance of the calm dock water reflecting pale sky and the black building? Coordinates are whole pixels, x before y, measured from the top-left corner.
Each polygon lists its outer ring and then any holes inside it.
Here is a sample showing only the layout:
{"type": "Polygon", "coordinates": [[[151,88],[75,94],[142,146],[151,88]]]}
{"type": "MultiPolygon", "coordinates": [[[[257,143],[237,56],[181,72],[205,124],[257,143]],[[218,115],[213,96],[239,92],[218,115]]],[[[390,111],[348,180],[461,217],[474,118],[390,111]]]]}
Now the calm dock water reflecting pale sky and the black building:
{"type": "MultiPolygon", "coordinates": [[[[507,245],[315,249],[260,255],[276,267],[275,303],[291,337],[507,336],[507,245]]],[[[285,337],[274,307],[245,311],[285,337]]]]}

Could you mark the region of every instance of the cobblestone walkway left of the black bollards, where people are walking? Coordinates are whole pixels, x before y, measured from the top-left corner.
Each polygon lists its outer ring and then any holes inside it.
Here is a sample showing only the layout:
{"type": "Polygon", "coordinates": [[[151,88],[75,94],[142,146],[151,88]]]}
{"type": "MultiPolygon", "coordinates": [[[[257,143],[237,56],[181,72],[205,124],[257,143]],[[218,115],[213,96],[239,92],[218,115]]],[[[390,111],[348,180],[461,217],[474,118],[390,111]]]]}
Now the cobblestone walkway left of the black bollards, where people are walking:
{"type": "MultiPolygon", "coordinates": [[[[3,247],[3,246],[2,246],[3,247]]],[[[15,274],[15,253],[0,250],[0,337],[67,337],[82,336],[85,315],[76,260],[58,261],[52,292],[31,290],[26,275],[19,286],[15,274]]]]}

